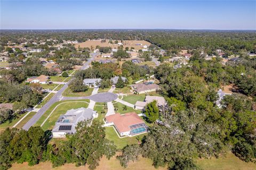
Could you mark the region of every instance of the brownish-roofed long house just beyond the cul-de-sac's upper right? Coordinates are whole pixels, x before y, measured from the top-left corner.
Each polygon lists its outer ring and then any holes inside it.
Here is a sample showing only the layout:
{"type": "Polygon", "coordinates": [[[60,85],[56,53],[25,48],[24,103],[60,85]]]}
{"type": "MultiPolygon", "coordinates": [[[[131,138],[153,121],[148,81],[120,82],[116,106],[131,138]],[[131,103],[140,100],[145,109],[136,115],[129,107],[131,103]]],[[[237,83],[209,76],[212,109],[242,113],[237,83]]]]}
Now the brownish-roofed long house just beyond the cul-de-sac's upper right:
{"type": "Polygon", "coordinates": [[[154,92],[160,89],[160,86],[157,84],[148,84],[148,83],[138,83],[131,85],[133,91],[138,94],[154,92]]]}

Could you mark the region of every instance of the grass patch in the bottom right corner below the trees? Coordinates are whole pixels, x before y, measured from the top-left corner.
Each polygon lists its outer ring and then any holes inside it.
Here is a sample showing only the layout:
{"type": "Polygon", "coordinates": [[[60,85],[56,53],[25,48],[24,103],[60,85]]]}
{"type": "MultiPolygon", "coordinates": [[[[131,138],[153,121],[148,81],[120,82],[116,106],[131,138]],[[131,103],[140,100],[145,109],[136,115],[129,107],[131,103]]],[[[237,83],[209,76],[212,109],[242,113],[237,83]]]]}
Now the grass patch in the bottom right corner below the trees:
{"type": "Polygon", "coordinates": [[[233,153],[228,152],[226,157],[197,159],[196,163],[202,169],[207,170],[253,170],[256,169],[256,164],[245,163],[236,157],[233,153]]]}

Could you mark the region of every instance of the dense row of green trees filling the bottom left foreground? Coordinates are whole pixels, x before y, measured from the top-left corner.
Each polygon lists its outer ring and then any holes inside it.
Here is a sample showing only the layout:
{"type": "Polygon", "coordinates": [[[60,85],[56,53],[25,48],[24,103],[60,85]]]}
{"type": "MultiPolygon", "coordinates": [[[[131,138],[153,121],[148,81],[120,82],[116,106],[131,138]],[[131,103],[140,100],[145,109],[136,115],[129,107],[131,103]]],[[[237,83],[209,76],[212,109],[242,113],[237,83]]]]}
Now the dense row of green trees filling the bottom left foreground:
{"type": "Polygon", "coordinates": [[[28,131],[7,128],[0,137],[1,169],[10,168],[13,163],[28,162],[33,166],[44,161],[51,161],[53,167],[73,163],[95,169],[103,155],[108,159],[115,155],[116,147],[105,138],[101,124],[88,124],[79,122],[76,134],[58,145],[49,144],[51,132],[44,132],[41,127],[30,127],[28,131]]]}

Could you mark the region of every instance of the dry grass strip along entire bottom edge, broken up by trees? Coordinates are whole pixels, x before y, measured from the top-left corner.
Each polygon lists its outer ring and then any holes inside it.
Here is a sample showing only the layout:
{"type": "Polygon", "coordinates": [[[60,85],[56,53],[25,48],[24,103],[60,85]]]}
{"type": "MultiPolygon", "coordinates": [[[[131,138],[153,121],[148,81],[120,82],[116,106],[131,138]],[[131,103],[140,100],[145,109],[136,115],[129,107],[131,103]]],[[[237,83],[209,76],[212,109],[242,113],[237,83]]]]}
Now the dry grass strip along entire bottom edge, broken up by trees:
{"type": "MultiPolygon", "coordinates": [[[[116,155],[117,156],[117,155],[116,155]]],[[[233,155],[233,153],[228,153],[226,158],[219,159],[198,159],[197,165],[204,170],[254,170],[256,169],[256,165],[253,163],[245,163],[244,161],[238,159],[233,155]]],[[[11,170],[44,170],[44,169],[54,169],[54,170],[89,170],[87,166],[76,167],[74,164],[65,164],[60,167],[52,168],[52,164],[50,162],[40,163],[35,166],[28,166],[28,163],[23,164],[13,164],[10,168],[11,170]]],[[[125,169],[121,167],[119,161],[116,157],[110,158],[108,160],[106,157],[102,157],[99,163],[99,166],[96,170],[119,170],[125,169]]],[[[154,166],[152,166],[152,161],[148,158],[139,158],[139,161],[134,163],[129,163],[129,166],[126,168],[127,170],[138,169],[138,170],[156,170],[154,166]]],[[[164,170],[166,168],[159,167],[157,170],[164,170]]]]}

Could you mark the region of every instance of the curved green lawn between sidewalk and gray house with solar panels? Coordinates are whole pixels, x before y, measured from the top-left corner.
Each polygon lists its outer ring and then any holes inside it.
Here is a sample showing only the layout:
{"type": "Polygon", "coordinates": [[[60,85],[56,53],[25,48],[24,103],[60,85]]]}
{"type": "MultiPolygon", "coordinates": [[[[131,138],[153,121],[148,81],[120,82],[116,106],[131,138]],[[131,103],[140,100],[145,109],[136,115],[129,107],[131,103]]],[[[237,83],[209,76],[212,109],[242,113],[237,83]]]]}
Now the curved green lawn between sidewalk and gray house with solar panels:
{"type": "Polygon", "coordinates": [[[77,109],[77,108],[87,108],[88,104],[85,102],[68,102],[60,104],[53,112],[49,119],[46,120],[42,126],[43,130],[52,129],[60,115],[66,114],[67,110],[77,109]]]}

